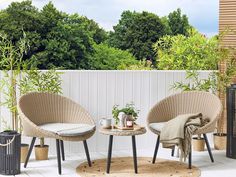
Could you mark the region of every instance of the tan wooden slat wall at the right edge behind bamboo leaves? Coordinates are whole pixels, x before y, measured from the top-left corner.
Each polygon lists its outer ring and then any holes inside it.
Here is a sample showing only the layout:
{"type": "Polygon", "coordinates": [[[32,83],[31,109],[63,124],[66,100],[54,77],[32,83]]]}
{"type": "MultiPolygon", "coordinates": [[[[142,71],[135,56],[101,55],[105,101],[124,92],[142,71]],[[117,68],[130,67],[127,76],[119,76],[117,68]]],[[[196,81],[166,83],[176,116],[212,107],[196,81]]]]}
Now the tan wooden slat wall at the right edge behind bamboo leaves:
{"type": "MultiPolygon", "coordinates": [[[[219,33],[223,34],[221,47],[235,48],[236,47],[236,0],[220,0],[219,9],[219,33]]],[[[225,72],[226,63],[222,62],[219,65],[220,72],[225,72]]],[[[234,79],[232,82],[236,82],[234,79]]],[[[220,95],[220,99],[224,105],[224,111],[219,124],[222,124],[223,131],[226,132],[226,98],[225,94],[220,95]]]]}

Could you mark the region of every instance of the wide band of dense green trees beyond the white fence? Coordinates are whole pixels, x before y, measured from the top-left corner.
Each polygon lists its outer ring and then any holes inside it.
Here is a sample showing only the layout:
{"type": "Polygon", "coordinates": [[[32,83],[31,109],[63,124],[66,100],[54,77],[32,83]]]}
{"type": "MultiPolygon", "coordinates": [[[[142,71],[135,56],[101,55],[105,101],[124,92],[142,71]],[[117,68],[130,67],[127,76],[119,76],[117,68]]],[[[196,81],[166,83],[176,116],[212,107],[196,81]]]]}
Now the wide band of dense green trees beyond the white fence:
{"type": "Polygon", "coordinates": [[[87,17],[57,10],[52,2],[41,10],[31,0],[13,2],[0,11],[0,33],[14,45],[26,36],[28,50],[22,59],[39,69],[152,69],[153,44],[164,35],[188,35],[189,28],[180,9],[162,18],[124,11],[109,34],[87,17]]]}

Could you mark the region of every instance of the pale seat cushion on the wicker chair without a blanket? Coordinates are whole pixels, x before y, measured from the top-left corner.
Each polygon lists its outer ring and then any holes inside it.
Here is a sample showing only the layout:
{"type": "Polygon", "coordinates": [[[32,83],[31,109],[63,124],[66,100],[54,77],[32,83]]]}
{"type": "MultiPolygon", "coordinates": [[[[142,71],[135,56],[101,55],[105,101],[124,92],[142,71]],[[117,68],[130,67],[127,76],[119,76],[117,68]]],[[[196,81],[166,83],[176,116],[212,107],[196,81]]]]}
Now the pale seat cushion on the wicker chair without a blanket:
{"type": "Polygon", "coordinates": [[[72,123],[48,123],[39,127],[60,136],[80,136],[95,130],[95,125],[72,123]]]}

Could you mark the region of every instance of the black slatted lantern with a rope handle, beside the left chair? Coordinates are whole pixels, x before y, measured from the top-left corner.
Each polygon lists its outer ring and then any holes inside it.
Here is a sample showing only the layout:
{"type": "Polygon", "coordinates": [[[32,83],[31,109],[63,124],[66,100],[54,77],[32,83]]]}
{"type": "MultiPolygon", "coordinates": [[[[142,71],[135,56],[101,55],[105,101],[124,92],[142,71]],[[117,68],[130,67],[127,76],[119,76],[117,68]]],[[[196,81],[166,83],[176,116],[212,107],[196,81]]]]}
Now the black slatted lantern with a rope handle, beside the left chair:
{"type": "Polygon", "coordinates": [[[21,134],[16,131],[0,133],[0,174],[20,173],[21,134]]]}

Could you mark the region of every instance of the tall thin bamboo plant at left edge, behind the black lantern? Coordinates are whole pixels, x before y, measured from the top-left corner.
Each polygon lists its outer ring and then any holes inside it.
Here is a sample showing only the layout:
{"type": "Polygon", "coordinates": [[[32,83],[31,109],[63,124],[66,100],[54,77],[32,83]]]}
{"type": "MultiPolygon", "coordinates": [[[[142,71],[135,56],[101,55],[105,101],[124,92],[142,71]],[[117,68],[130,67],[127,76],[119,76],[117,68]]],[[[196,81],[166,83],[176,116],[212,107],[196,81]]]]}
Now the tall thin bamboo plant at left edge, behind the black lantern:
{"type": "Polygon", "coordinates": [[[1,106],[6,106],[11,112],[11,129],[18,129],[17,117],[17,83],[21,68],[27,63],[22,61],[27,50],[25,36],[13,44],[6,35],[0,34],[0,68],[3,69],[3,77],[0,81],[0,91],[3,93],[1,106]]]}

